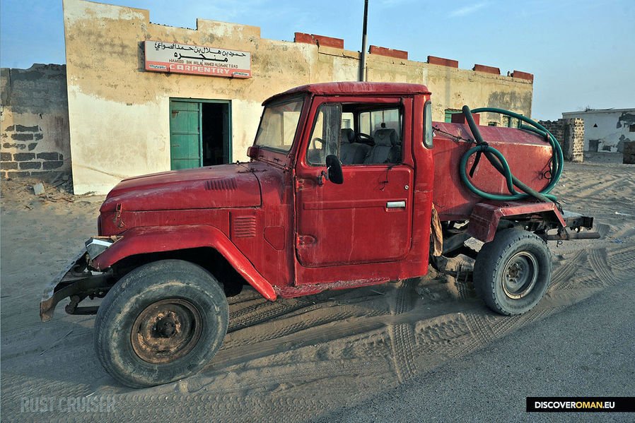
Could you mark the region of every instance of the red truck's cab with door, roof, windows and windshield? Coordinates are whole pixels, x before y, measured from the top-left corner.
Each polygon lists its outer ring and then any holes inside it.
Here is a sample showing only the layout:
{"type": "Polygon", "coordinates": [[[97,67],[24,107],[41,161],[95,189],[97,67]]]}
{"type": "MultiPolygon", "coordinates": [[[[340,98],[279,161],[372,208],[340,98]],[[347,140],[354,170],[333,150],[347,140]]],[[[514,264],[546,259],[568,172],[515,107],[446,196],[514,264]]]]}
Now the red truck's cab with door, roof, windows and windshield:
{"type": "Polygon", "coordinates": [[[421,130],[426,100],[423,85],[330,83],[265,102],[249,154],[281,172],[286,192],[271,206],[289,198],[281,220],[289,255],[276,263],[289,272],[276,284],[281,297],[426,273],[433,184],[421,130]],[[327,166],[327,157],[337,160],[327,166]],[[330,177],[334,167],[339,179],[330,177]]]}

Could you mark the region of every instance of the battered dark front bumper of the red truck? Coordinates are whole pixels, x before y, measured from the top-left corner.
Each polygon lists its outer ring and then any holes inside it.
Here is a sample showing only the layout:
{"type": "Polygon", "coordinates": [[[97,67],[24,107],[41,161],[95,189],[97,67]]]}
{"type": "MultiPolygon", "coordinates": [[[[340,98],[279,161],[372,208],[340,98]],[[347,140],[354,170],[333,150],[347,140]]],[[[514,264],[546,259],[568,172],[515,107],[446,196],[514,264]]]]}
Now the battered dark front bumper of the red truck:
{"type": "MultiPolygon", "coordinates": [[[[40,319],[49,321],[53,317],[53,312],[57,303],[62,299],[70,297],[71,302],[66,306],[66,313],[69,314],[95,314],[98,307],[78,307],[77,304],[86,297],[104,297],[112,287],[112,271],[97,272],[92,270],[91,258],[95,258],[110,245],[96,243],[100,247],[95,248],[95,239],[91,238],[86,242],[86,248],[82,249],[71,259],[64,270],[54,278],[42,295],[40,302],[40,319]],[[102,248],[103,247],[103,248],[102,248]],[[93,257],[89,256],[89,253],[93,257]]],[[[99,239],[98,239],[99,241],[99,239]]],[[[112,245],[114,241],[110,242],[112,245]]]]}

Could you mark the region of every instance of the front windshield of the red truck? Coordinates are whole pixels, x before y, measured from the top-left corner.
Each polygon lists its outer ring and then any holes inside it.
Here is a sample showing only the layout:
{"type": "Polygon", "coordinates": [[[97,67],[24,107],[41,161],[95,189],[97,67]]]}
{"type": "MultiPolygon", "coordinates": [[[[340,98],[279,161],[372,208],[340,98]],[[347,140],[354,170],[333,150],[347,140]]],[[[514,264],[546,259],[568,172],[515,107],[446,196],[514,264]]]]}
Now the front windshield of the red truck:
{"type": "Polygon", "coordinates": [[[256,134],[259,147],[271,148],[287,153],[296,136],[303,99],[283,100],[264,108],[260,127],[256,134]]]}

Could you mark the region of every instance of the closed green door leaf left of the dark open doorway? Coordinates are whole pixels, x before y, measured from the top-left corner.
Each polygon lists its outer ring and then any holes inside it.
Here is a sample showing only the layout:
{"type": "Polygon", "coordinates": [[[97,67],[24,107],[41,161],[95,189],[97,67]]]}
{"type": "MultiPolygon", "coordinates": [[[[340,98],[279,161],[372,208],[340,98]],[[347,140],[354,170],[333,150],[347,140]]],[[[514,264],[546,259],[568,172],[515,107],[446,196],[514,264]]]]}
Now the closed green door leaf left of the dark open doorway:
{"type": "Polygon", "coordinates": [[[201,104],[170,100],[170,166],[190,169],[203,165],[201,104]]]}

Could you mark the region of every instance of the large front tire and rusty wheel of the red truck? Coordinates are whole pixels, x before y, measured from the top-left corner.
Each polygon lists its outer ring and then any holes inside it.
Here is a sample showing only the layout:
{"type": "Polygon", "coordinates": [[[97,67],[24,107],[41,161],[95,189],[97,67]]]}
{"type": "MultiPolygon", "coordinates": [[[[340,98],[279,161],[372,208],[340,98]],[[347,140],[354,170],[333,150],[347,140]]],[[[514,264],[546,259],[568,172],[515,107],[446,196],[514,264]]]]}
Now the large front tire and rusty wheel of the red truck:
{"type": "Polygon", "coordinates": [[[181,260],[132,270],[106,295],[95,320],[95,351],[110,376],[132,388],[199,371],[227,333],[223,289],[204,268],[181,260]]]}

